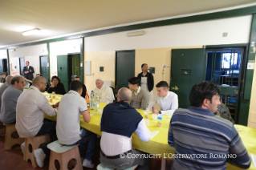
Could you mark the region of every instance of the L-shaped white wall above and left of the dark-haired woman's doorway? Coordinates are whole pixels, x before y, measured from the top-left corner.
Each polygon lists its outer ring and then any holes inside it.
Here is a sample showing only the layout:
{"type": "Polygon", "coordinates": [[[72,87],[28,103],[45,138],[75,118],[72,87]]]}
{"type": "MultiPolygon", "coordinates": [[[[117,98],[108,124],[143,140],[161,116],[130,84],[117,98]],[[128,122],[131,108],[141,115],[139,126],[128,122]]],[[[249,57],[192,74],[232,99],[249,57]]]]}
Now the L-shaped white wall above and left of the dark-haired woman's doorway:
{"type": "Polygon", "coordinates": [[[81,42],[81,38],[50,43],[50,65],[51,65],[50,74],[51,74],[51,77],[53,75],[58,75],[57,55],[80,53],[80,51],[81,51],[80,42],[81,42]]]}

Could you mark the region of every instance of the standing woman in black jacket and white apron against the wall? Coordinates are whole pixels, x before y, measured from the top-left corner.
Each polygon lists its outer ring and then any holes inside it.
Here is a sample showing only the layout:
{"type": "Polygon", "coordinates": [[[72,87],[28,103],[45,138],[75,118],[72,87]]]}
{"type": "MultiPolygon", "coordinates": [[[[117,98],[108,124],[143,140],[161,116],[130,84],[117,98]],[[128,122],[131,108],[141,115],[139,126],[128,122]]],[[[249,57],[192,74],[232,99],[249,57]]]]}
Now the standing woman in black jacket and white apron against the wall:
{"type": "Polygon", "coordinates": [[[141,64],[142,72],[137,76],[140,79],[140,87],[144,91],[148,91],[148,102],[151,101],[153,97],[152,89],[154,87],[154,77],[152,73],[148,72],[148,64],[141,64]]]}

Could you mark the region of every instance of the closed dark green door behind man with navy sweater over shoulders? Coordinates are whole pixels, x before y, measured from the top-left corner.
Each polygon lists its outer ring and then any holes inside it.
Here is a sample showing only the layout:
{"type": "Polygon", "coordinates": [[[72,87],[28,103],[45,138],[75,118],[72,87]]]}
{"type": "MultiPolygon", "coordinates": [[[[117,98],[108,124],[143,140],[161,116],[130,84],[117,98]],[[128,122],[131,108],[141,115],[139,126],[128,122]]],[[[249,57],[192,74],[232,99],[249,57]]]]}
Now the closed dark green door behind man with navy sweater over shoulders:
{"type": "Polygon", "coordinates": [[[128,79],[135,74],[135,51],[116,51],[116,84],[128,87],[128,79]]]}

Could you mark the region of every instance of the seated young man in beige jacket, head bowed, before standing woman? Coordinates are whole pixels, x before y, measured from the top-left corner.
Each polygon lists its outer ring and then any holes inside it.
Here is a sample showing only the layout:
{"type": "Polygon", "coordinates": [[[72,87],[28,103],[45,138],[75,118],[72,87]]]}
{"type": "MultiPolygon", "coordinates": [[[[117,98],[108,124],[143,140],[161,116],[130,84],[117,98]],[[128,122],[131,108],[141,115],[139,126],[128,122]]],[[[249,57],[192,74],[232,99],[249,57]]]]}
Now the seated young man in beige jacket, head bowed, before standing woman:
{"type": "Polygon", "coordinates": [[[139,84],[140,79],[137,77],[128,79],[128,87],[132,91],[131,106],[146,110],[146,107],[148,107],[148,92],[140,88],[139,84]]]}

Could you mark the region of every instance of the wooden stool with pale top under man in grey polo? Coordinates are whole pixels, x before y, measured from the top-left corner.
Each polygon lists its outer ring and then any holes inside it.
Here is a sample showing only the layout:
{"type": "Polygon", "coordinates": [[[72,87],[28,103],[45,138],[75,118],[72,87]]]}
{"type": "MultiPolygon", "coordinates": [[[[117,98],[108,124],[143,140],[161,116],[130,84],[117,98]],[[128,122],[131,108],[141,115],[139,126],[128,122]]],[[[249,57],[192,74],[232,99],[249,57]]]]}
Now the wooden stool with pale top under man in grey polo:
{"type": "Polygon", "coordinates": [[[67,164],[70,162],[70,160],[75,159],[75,168],[72,169],[83,170],[78,146],[79,145],[65,146],[60,144],[59,140],[48,144],[47,148],[51,150],[49,169],[56,169],[55,162],[59,162],[59,169],[66,170],[68,169],[67,164]]]}

